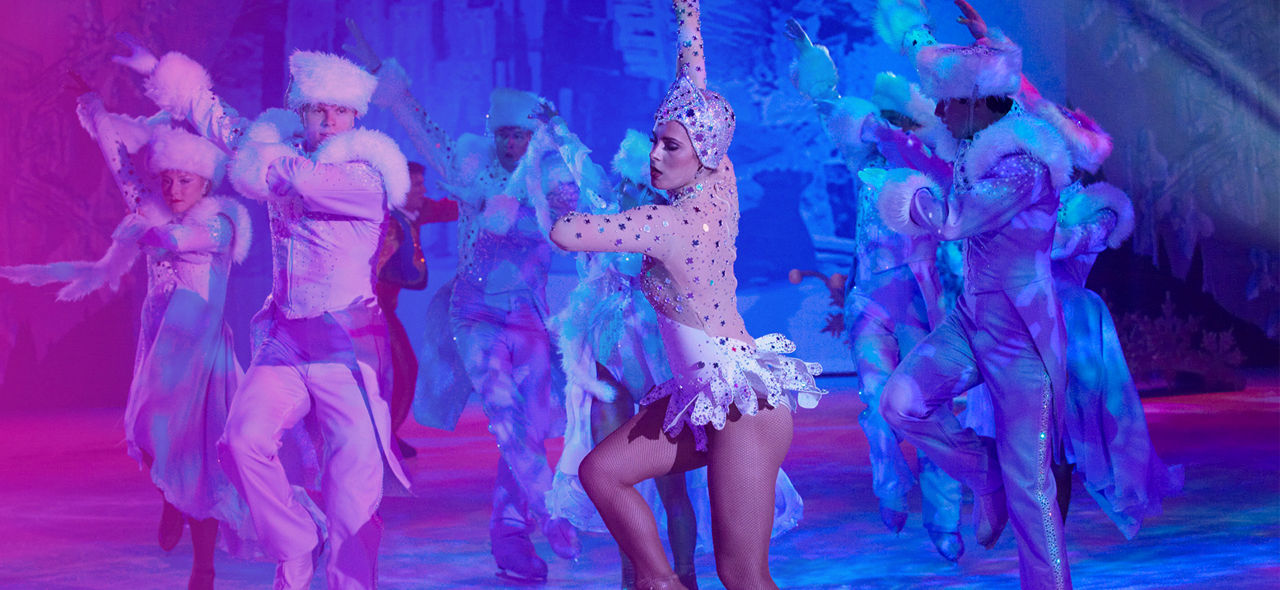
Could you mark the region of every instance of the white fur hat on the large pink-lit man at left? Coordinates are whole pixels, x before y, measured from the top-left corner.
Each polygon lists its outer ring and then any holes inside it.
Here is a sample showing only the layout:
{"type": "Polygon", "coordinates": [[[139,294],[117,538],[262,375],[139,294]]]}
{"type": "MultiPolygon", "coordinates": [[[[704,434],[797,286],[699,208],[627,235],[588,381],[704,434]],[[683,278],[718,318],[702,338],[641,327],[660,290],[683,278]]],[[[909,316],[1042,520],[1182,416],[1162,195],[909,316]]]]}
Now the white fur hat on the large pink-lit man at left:
{"type": "Polygon", "coordinates": [[[369,113],[378,78],[351,60],[321,51],[294,51],[289,56],[289,109],[328,104],[369,113]]]}

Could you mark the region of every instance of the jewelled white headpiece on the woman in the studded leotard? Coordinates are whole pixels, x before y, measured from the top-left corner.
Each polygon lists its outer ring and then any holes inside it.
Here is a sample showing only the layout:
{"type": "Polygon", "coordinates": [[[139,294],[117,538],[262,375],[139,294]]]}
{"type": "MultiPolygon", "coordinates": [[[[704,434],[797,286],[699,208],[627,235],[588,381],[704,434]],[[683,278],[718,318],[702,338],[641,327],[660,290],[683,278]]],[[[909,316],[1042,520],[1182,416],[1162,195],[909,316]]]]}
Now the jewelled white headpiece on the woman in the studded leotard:
{"type": "Polygon", "coordinates": [[[698,160],[707,168],[719,165],[733,141],[733,108],[719,93],[694,86],[684,72],[653,114],[654,127],[668,120],[685,127],[698,160]]]}

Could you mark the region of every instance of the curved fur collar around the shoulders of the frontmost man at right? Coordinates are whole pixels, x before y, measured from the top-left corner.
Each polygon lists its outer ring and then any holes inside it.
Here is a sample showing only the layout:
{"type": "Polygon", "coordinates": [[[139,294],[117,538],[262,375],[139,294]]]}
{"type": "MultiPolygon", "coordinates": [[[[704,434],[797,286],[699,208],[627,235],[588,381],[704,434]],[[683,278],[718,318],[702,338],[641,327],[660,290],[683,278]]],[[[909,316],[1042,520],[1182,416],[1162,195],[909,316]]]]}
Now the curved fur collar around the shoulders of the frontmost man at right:
{"type": "Polygon", "coordinates": [[[1048,166],[1055,189],[1071,182],[1071,155],[1062,137],[1048,123],[1029,115],[1010,113],[978,132],[964,157],[970,178],[980,178],[1015,154],[1027,154],[1048,166]]]}

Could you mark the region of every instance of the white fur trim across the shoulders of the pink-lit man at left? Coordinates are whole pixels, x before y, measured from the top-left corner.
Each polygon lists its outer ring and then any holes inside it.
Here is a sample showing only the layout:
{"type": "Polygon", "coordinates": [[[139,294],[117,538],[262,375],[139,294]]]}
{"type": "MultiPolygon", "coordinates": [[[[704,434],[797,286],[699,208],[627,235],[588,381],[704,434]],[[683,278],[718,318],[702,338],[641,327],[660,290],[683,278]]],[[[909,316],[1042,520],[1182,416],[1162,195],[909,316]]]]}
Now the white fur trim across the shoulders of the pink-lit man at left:
{"type": "MultiPolygon", "coordinates": [[[[246,197],[265,201],[271,195],[266,184],[268,168],[280,157],[303,156],[296,147],[301,138],[302,122],[297,113],[284,109],[264,111],[236,150],[229,173],[232,186],[246,197]]],[[[364,128],[339,133],[320,143],[312,160],[317,164],[366,163],[381,175],[388,205],[404,206],[410,188],[408,161],[385,133],[364,128]]]]}

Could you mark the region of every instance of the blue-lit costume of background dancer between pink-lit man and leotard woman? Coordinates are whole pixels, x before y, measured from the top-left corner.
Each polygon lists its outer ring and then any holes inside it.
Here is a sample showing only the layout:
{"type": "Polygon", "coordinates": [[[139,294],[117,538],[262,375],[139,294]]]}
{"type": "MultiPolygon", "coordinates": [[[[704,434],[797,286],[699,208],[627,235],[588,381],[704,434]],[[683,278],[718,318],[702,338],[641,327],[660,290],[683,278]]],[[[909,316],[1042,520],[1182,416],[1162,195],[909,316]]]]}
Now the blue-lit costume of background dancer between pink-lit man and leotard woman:
{"type": "Polygon", "coordinates": [[[576,177],[561,150],[581,143],[556,116],[536,125],[524,157],[507,171],[493,137],[454,140],[397,76],[396,69],[383,73],[375,100],[390,109],[458,201],[458,273],[429,310],[430,335],[439,342],[428,343],[420,357],[433,371],[419,380],[415,416],[452,429],[476,392],[502,452],[490,526],[545,526],[552,470],[544,440],[563,424],[545,325],[547,232],[577,202],[576,177]]]}

